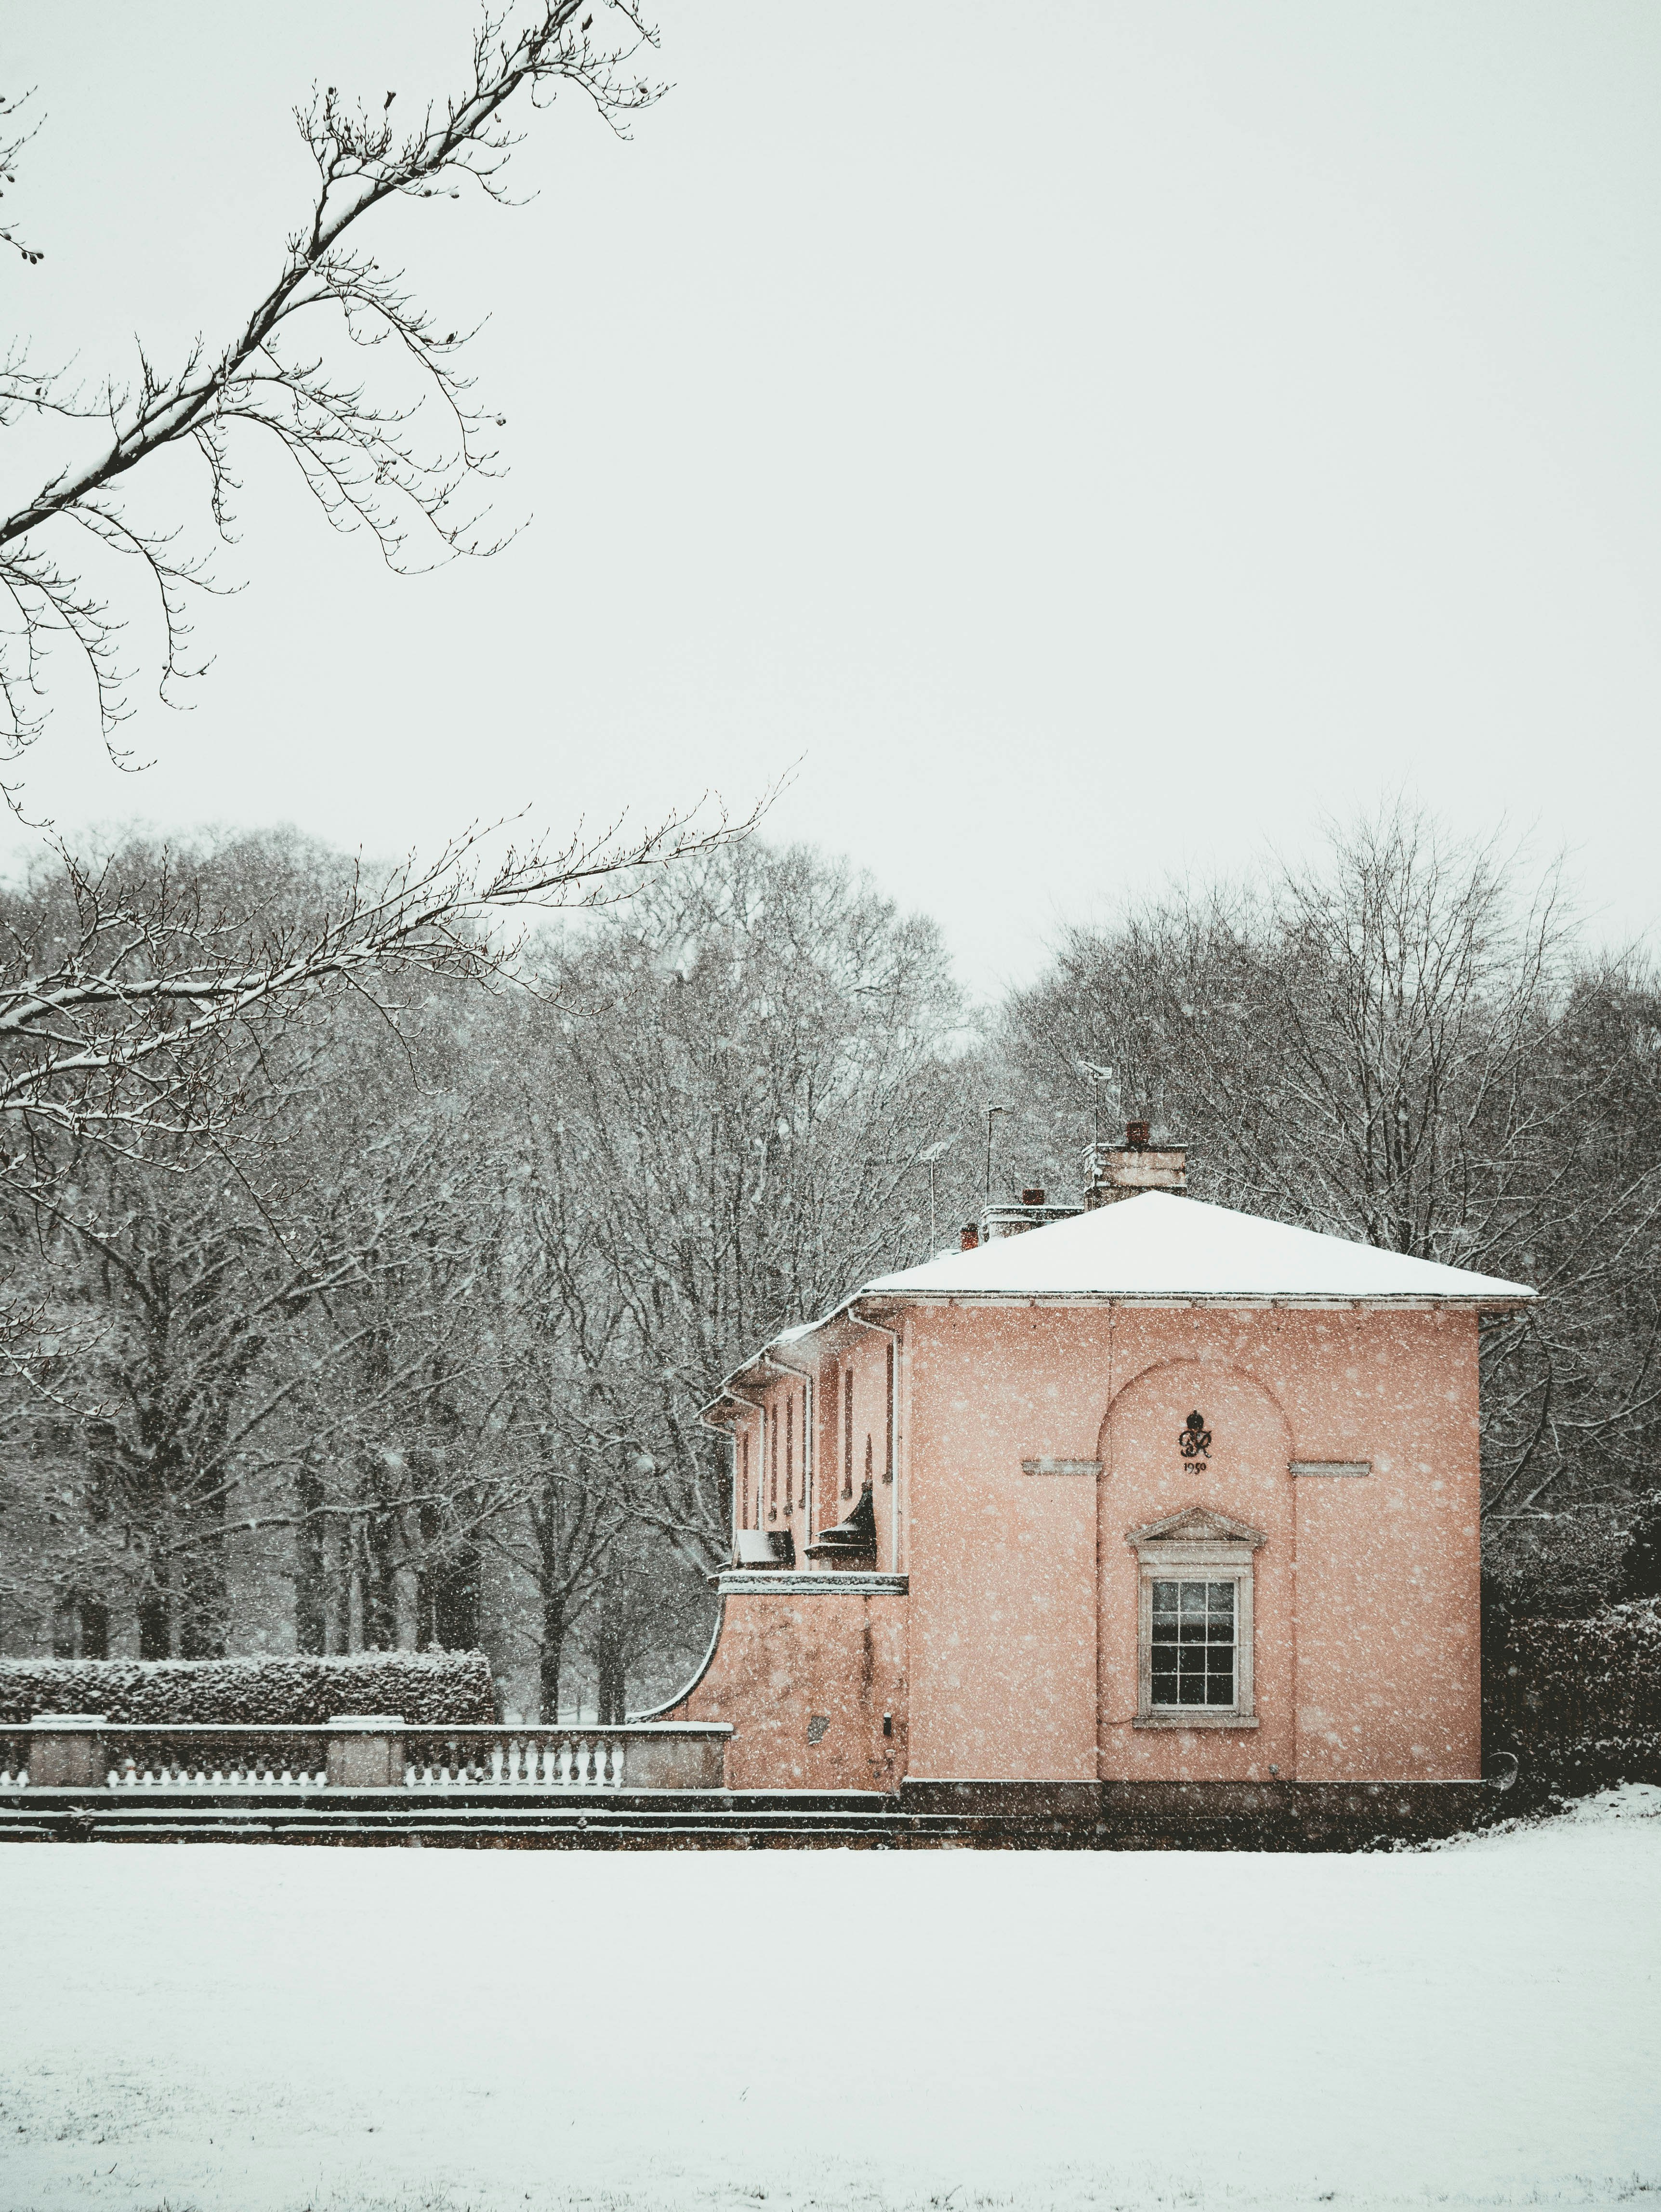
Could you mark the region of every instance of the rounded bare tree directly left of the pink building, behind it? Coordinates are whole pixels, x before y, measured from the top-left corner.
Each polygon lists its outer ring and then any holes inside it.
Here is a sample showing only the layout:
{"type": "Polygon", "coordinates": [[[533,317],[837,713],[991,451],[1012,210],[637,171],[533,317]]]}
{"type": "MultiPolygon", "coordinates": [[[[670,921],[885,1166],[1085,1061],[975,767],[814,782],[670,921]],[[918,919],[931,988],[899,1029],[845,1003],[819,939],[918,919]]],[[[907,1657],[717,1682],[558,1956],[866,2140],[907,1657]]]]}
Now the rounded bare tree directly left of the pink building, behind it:
{"type": "Polygon", "coordinates": [[[568,1418],[646,1462],[637,1515],[712,1566],[725,1458],[697,1409],[779,1327],[922,1254],[927,1155],[969,1119],[964,1006],[931,922],[754,843],[644,885],[546,978],[526,1203],[586,1378],[568,1418]]]}

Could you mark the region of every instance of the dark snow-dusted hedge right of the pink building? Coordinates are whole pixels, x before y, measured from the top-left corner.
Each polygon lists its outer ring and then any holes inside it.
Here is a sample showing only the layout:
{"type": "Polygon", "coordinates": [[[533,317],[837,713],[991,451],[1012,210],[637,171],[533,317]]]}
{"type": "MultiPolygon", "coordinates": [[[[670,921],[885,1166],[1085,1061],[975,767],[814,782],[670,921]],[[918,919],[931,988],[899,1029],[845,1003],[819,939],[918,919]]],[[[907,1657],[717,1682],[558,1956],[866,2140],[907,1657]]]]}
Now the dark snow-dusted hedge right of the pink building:
{"type": "Polygon", "coordinates": [[[1486,1705],[1488,1741],[1546,1774],[1661,1778],[1661,1597],[1581,1621],[1513,1621],[1488,1661],[1486,1705]]]}

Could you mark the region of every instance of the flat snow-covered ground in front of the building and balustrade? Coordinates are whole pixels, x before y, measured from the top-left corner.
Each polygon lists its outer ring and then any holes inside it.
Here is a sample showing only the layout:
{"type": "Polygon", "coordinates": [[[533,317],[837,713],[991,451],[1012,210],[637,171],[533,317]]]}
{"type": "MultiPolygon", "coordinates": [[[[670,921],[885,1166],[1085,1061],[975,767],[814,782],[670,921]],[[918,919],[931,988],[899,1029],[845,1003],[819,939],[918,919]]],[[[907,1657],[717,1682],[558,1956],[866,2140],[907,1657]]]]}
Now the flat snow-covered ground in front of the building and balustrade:
{"type": "Polygon", "coordinates": [[[1378,1858],[0,1854],[4,2212],[1661,2192],[1661,1790],[1378,1858]]]}

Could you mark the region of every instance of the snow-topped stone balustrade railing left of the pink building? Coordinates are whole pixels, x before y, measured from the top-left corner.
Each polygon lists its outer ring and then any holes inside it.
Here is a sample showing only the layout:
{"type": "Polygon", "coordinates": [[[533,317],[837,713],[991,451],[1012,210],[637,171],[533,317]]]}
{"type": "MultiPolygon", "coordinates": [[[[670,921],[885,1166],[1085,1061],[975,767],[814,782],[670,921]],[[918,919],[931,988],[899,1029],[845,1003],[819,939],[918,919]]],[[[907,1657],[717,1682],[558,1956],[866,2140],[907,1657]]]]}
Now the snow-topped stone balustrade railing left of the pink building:
{"type": "Polygon", "coordinates": [[[418,1728],[349,1714],[321,1728],[173,1728],[53,1712],[0,1728],[4,1790],[721,1790],[725,1723],[418,1728]]]}

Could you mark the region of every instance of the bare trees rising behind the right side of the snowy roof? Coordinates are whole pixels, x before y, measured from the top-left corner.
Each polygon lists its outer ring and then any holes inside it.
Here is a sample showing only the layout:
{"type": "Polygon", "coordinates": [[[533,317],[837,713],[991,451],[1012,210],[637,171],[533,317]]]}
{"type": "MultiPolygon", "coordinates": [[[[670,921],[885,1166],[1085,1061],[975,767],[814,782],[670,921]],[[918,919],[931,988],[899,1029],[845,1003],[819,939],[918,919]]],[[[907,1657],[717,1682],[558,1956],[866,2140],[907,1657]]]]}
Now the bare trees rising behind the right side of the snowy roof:
{"type": "Polygon", "coordinates": [[[1398,807],[1070,931],[1006,1051],[1051,1159],[1106,1084],[1203,1197],[1542,1287],[1484,1332],[1486,1513],[1626,1486],[1661,1407],[1657,1000],[1586,967],[1555,874],[1398,807]]]}

